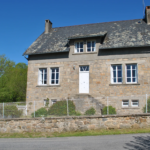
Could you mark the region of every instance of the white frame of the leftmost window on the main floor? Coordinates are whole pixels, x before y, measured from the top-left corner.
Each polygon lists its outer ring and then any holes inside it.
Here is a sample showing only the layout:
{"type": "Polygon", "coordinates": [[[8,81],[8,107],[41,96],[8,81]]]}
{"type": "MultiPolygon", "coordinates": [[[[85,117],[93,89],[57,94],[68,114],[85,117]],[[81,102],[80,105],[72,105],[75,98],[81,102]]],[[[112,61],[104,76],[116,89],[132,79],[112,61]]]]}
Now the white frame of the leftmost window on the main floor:
{"type": "Polygon", "coordinates": [[[38,85],[47,85],[47,68],[39,68],[39,75],[38,75],[38,85]],[[45,81],[45,70],[46,70],[46,84],[45,81]],[[41,71],[43,72],[43,79],[41,79],[41,71]]]}

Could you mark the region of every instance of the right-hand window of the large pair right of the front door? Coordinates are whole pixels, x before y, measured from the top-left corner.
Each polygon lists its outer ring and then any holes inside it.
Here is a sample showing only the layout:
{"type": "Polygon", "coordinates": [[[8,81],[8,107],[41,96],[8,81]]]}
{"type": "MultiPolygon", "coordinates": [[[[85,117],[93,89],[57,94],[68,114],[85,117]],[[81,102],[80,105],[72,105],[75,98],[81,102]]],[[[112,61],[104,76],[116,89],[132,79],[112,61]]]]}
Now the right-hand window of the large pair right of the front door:
{"type": "Polygon", "coordinates": [[[136,64],[126,65],[126,82],[137,83],[137,65],[136,64]]]}

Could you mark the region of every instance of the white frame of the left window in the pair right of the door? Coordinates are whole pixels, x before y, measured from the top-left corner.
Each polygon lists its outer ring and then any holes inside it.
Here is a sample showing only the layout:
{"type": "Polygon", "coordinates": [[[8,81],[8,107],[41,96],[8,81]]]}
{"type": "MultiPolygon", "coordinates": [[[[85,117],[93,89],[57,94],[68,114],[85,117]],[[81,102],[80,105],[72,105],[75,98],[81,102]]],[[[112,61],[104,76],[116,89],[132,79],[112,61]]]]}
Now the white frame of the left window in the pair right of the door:
{"type": "Polygon", "coordinates": [[[122,84],[123,83],[123,71],[122,71],[122,64],[113,64],[111,65],[111,83],[112,84],[122,84]],[[116,66],[116,82],[114,82],[114,77],[113,77],[113,66],[116,66]],[[122,73],[122,82],[118,82],[118,67],[117,66],[121,66],[121,73],[122,73]]]}

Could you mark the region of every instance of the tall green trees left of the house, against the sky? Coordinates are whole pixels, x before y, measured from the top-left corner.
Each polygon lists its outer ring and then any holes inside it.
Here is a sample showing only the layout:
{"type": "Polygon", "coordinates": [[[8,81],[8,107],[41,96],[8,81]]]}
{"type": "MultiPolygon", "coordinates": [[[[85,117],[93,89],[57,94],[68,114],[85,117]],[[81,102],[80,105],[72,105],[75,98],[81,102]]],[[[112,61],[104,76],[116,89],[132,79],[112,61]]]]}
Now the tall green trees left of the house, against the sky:
{"type": "Polygon", "coordinates": [[[27,65],[0,55],[0,102],[25,101],[27,65]]]}

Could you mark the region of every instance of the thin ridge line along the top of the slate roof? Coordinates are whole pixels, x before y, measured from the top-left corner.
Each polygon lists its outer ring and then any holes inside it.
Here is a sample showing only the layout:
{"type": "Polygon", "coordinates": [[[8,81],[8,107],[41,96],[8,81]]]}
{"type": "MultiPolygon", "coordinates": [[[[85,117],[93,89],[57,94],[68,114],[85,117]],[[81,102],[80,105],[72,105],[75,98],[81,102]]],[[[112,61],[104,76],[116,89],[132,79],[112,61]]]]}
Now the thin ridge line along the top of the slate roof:
{"type": "Polygon", "coordinates": [[[84,25],[93,25],[93,24],[103,24],[103,23],[113,23],[113,22],[134,21],[134,20],[143,20],[143,19],[140,18],[140,19],[132,19],[132,20],[118,20],[118,21],[110,21],[110,22],[98,22],[98,23],[89,23],[89,24],[80,24],[80,25],[72,25],[72,26],[55,27],[55,28],[52,28],[52,29],[74,27],[74,26],[84,26],[84,25]]]}

